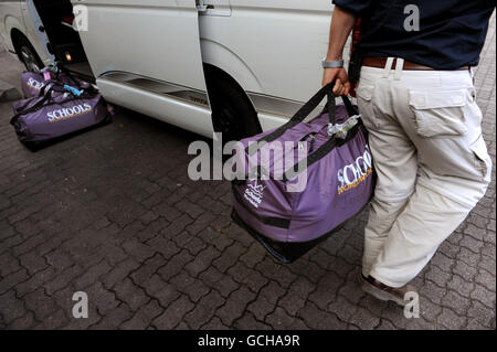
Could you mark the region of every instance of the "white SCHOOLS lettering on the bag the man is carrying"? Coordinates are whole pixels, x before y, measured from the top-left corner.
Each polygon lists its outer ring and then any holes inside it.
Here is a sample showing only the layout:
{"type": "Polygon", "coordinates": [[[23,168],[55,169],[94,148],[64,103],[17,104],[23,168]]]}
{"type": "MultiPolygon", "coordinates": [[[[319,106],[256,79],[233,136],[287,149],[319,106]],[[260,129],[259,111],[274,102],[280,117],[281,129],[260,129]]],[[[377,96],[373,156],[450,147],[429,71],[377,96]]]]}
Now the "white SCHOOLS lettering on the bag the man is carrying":
{"type": "Polygon", "coordinates": [[[372,158],[369,152],[369,147],[366,146],[364,153],[357,158],[356,162],[338,170],[338,194],[357,188],[366,181],[372,172],[372,158]]]}

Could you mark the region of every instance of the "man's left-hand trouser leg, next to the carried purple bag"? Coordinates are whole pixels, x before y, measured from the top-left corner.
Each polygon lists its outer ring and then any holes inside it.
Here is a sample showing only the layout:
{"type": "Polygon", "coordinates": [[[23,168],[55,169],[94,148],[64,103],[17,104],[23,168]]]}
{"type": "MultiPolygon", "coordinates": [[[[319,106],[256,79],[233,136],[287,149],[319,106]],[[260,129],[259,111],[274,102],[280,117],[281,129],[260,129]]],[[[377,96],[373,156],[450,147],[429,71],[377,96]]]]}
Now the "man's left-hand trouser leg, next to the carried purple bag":
{"type": "Polygon", "coordinates": [[[363,68],[358,104],[369,131],[369,145],[378,174],[374,199],[364,230],[362,275],[369,276],[396,217],[414,192],[417,154],[402,126],[392,119],[391,78],[381,70],[363,68]]]}

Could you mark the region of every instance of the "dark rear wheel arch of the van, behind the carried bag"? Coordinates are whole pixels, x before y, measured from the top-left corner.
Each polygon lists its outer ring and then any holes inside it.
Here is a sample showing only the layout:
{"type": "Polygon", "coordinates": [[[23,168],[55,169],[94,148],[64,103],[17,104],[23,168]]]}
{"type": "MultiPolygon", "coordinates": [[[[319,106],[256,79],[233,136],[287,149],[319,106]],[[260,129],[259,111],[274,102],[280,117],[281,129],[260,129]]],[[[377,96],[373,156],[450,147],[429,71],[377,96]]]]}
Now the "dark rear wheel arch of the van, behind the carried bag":
{"type": "Polygon", "coordinates": [[[240,84],[223,70],[203,64],[214,131],[223,141],[240,140],[262,132],[257,113],[240,84]]]}

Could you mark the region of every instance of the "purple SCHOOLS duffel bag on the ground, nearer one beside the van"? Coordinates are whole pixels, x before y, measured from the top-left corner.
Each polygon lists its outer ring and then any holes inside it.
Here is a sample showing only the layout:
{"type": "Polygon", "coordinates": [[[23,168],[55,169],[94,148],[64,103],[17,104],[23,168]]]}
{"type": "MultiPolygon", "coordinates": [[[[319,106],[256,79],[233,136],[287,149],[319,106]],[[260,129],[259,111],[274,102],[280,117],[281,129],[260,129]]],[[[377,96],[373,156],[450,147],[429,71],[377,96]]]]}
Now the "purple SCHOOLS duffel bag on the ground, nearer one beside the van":
{"type": "Polygon", "coordinates": [[[93,87],[80,95],[53,82],[40,96],[15,102],[10,124],[27,147],[38,149],[61,137],[110,120],[107,104],[93,87]]]}

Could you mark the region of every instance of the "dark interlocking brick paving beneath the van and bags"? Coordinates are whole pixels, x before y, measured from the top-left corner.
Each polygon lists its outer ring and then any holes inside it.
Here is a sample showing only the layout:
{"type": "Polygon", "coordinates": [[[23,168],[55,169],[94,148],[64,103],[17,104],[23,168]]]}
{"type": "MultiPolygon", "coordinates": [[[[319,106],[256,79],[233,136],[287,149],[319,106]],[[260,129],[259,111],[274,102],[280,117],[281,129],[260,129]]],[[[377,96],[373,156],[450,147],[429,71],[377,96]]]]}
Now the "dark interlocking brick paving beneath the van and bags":
{"type": "MultiPolygon", "coordinates": [[[[0,53],[2,79],[21,66],[0,53]]],[[[495,161],[495,18],[476,75],[495,161]]],[[[0,105],[0,328],[495,329],[493,185],[414,280],[421,318],[364,295],[363,213],[292,265],[230,218],[228,182],[192,182],[195,135],[119,109],[38,153],[0,105]],[[86,291],[89,318],[72,318],[86,291]]]]}

